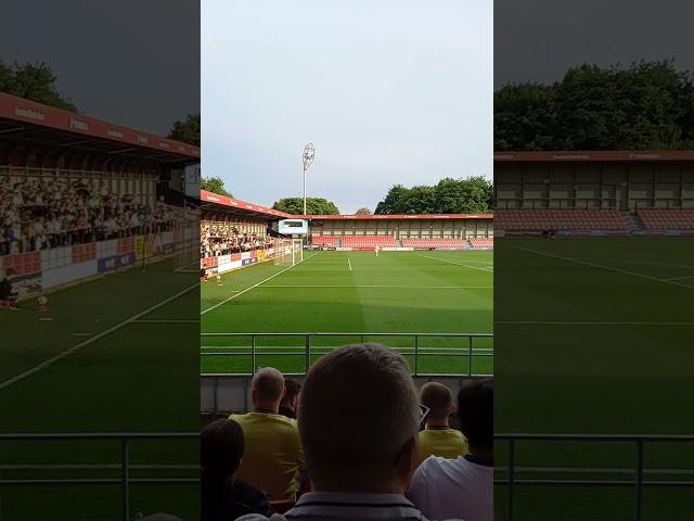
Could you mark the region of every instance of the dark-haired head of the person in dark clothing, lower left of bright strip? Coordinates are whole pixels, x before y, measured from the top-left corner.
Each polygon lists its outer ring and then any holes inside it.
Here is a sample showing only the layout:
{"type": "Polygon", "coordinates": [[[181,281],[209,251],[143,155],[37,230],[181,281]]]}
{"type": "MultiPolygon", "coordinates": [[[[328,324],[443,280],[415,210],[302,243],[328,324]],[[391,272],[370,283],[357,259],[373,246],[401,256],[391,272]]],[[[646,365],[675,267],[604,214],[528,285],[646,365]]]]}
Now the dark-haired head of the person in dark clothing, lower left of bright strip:
{"type": "Polygon", "coordinates": [[[227,481],[239,469],[244,450],[241,425],[233,420],[217,420],[201,432],[201,467],[209,481],[227,481]]]}

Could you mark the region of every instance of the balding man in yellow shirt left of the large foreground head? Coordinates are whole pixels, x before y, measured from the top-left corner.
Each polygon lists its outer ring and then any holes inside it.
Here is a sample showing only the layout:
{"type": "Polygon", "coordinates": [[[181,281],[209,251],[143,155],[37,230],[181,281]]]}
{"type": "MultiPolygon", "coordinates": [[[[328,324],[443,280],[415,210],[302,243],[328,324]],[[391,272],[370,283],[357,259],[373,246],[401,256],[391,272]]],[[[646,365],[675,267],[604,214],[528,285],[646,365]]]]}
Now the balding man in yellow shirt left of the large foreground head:
{"type": "Polygon", "coordinates": [[[262,490],[272,501],[294,500],[306,469],[296,420],[278,414],[285,392],[282,373],[262,368],[253,378],[254,410],[230,416],[245,439],[237,478],[262,490]]]}

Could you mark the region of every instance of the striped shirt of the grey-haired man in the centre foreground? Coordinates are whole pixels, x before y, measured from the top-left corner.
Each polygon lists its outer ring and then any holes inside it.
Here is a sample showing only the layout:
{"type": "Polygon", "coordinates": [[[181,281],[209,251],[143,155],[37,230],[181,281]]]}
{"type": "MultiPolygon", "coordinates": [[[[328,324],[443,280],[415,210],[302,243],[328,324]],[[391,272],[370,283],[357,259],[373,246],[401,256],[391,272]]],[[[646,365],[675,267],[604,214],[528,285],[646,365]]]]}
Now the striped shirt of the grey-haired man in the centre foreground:
{"type": "MultiPolygon", "coordinates": [[[[237,521],[427,521],[412,503],[400,494],[345,494],[309,492],[284,516],[265,518],[248,514],[237,521]]],[[[455,520],[451,520],[455,521],[455,520]]]]}

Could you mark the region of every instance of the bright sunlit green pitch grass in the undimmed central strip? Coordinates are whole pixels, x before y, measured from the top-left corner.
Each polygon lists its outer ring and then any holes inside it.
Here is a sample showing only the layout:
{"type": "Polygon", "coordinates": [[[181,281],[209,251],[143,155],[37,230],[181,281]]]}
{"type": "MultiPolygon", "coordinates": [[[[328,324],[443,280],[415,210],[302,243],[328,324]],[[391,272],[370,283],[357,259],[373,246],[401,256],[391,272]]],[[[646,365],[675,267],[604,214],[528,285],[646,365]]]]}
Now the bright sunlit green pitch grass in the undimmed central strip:
{"type": "MultiPolygon", "coordinates": [[[[227,274],[221,285],[203,284],[202,331],[229,333],[202,338],[204,373],[253,372],[252,339],[239,333],[342,333],[311,338],[310,363],[370,341],[398,348],[417,374],[467,374],[467,338],[412,333],[492,332],[491,252],[305,255],[291,269],[265,264],[227,274]]],[[[256,367],[306,372],[305,336],[259,335],[255,343],[256,367]]],[[[473,338],[472,347],[472,372],[491,373],[491,338],[473,338]]]]}

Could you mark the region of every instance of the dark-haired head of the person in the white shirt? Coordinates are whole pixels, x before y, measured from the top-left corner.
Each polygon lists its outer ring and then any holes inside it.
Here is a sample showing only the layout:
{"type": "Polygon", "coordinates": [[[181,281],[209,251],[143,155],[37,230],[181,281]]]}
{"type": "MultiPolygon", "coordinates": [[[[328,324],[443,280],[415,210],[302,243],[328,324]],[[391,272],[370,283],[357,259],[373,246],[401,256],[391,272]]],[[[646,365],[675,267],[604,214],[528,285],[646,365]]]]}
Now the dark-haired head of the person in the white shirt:
{"type": "Polygon", "coordinates": [[[494,396],[491,378],[468,380],[458,392],[460,430],[471,452],[492,450],[494,434],[494,396]]]}

